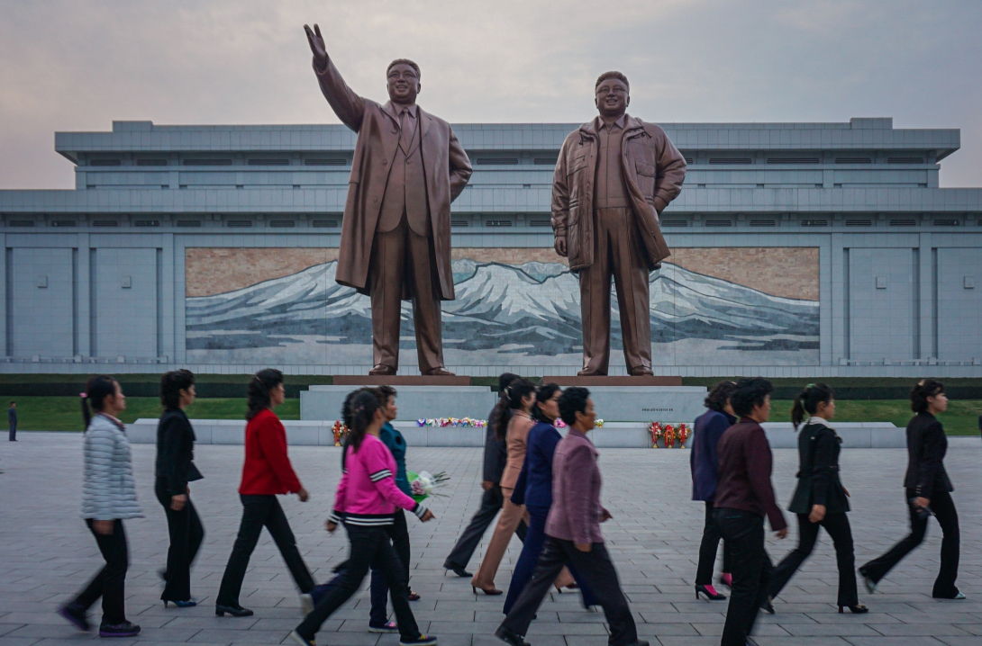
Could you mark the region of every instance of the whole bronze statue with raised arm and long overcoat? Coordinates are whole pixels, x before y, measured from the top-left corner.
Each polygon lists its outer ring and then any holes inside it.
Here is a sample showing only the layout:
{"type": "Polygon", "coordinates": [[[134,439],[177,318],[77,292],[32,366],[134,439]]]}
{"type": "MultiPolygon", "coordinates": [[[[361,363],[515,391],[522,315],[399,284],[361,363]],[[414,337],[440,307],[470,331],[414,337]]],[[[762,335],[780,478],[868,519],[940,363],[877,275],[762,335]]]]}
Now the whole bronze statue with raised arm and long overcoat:
{"type": "Polygon", "coordinates": [[[303,25],[320,89],[357,132],[336,279],[371,297],[374,368],[399,370],[403,300],[412,301],[419,372],[444,368],[440,301],[454,300],[450,203],[472,170],[450,124],[416,105],[419,67],[389,65],[384,106],[355,94],[328,58],[320,27],[303,25]]]}

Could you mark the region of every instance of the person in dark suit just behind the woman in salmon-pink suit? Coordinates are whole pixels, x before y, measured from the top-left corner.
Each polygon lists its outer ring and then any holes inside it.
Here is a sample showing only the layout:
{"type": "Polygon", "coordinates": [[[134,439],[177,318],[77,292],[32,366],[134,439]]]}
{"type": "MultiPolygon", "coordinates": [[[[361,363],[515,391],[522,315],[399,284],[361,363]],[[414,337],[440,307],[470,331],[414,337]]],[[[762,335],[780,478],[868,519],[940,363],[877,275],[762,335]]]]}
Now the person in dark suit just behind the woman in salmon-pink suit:
{"type": "MultiPolygon", "coordinates": [[[[450,556],[443,562],[445,570],[453,571],[458,576],[473,576],[466,570],[467,562],[477,549],[477,544],[481,542],[488,525],[498,516],[505,503],[501,493],[501,476],[505,472],[505,463],[508,462],[505,433],[508,431],[508,422],[512,419],[512,408],[508,403],[508,386],[516,379],[518,374],[514,373],[502,373],[498,377],[498,402],[488,416],[484,439],[484,473],[481,479],[484,495],[481,497],[481,508],[470,519],[470,524],[457,539],[450,556]]],[[[525,522],[518,524],[515,533],[518,534],[519,540],[525,540],[525,522]]]]}

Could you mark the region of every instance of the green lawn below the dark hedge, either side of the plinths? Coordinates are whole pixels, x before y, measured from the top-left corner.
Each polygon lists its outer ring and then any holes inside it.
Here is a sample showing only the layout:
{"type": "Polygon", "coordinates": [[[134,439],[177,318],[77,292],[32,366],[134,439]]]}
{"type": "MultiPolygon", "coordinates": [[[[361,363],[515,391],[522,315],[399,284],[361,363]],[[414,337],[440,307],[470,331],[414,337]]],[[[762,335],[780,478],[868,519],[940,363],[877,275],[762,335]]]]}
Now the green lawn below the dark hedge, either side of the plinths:
{"type": "MultiPolygon", "coordinates": [[[[77,397],[18,397],[18,428],[21,430],[82,430],[82,408],[77,397]]],[[[836,402],[839,422],[894,422],[905,426],[910,420],[907,400],[841,400],[836,402]]],[[[283,420],[300,420],[300,400],[288,399],[276,409],[283,420]]],[[[199,420],[244,420],[245,399],[198,399],[188,407],[188,416],[199,420]]],[[[982,400],[953,401],[941,416],[950,435],[974,435],[982,415],[982,400]]],[[[160,416],[160,402],[153,397],[127,397],[123,422],[160,416]]],[[[613,421],[613,417],[611,417],[613,421]]],[[[791,421],[791,401],[775,400],[772,422],[791,421]]],[[[3,427],[0,424],[0,427],[3,427]]]]}

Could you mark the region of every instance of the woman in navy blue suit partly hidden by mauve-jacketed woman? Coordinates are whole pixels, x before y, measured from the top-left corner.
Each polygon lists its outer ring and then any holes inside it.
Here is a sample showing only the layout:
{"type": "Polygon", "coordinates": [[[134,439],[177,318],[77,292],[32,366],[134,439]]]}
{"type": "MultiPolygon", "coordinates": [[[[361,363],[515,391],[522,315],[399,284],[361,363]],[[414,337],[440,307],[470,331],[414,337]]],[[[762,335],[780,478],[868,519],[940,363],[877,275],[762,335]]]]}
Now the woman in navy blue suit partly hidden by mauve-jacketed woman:
{"type": "MultiPolygon", "coordinates": [[[[508,596],[505,597],[504,613],[508,615],[515,605],[518,595],[525,583],[532,577],[535,564],[546,543],[546,518],[552,507],[552,465],[556,446],[563,436],[556,430],[556,419],[559,417],[559,397],[563,389],[555,383],[540,385],[535,391],[535,405],[532,407],[535,425],[528,431],[528,448],[525,451],[525,463],[515,484],[512,502],[524,505],[528,510],[528,534],[521,548],[521,556],[515,564],[512,583],[508,586],[508,596]]],[[[556,588],[562,591],[575,580],[583,594],[583,606],[598,605],[590,589],[583,583],[575,571],[564,568],[556,579],[556,588]]]]}

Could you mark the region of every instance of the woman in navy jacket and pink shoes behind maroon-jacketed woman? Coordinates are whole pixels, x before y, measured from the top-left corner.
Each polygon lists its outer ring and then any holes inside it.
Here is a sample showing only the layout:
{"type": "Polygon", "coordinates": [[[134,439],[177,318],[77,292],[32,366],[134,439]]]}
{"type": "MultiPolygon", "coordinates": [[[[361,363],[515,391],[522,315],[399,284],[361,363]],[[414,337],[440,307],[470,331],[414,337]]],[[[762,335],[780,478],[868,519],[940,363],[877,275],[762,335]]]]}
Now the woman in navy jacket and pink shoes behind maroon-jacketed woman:
{"type": "MultiPolygon", "coordinates": [[[[730,393],[736,388],[734,381],[720,381],[706,396],[708,409],[695,419],[695,433],[692,436],[692,451],[689,466],[692,470],[692,500],[706,503],[706,520],[702,528],[702,543],[699,545],[699,565],[695,571],[695,598],[700,594],[710,601],[725,601],[727,596],[720,594],[713,586],[713,566],[716,565],[716,550],[720,546],[720,526],[713,514],[713,500],[716,497],[716,484],[720,469],[717,448],[720,438],[727,428],[736,423],[730,393]]],[[[730,548],[723,543],[723,572],[720,582],[729,586],[733,582],[730,575],[730,548]]]]}

